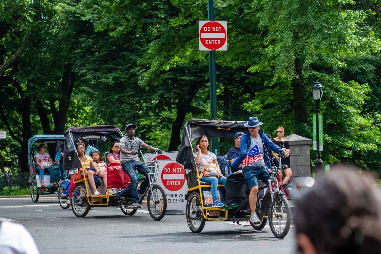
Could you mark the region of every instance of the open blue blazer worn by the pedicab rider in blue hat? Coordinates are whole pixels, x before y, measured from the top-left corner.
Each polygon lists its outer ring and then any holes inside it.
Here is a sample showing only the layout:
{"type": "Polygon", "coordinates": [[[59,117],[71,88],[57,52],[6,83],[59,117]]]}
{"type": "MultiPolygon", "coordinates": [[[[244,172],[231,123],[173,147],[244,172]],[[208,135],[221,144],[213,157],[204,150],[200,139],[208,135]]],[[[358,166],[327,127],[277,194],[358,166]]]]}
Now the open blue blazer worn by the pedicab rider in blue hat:
{"type": "MultiPolygon", "coordinates": [[[[263,157],[263,160],[264,160],[264,163],[266,164],[266,166],[271,168],[271,163],[270,163],[270,160],[268,157],[269,154],[267,153],[266,147],[268,147],[269,149],[271,149],[274,152],[278,152],[279,150],[283,150],[283,149],[281,147],[275,145],[271,141],[271,139],[269,139],[263,133],[264,133],[264,131],[261,129],[258,131],[258,134],[259,134],[259,136],[261,136],[262,143],[263,143],[263,153],[265,155],[267,155],[267,156],[263,157]]],[[[232,168],[238,168],[239,167],[239,165],[242,163],[242,161],[246,158],[246,155],[249,152],[248,150],[249,150],[250,145],[251,145],[250,133],[249,133],[249,131],[247,131],[245,133],[245,135],[243,135],[241,137],[241,142],[240,142],[240,146],[239,146],[241,153],[240,153],[240,155],[238,155],[237,159],[233,161],[232,168]]]]}

